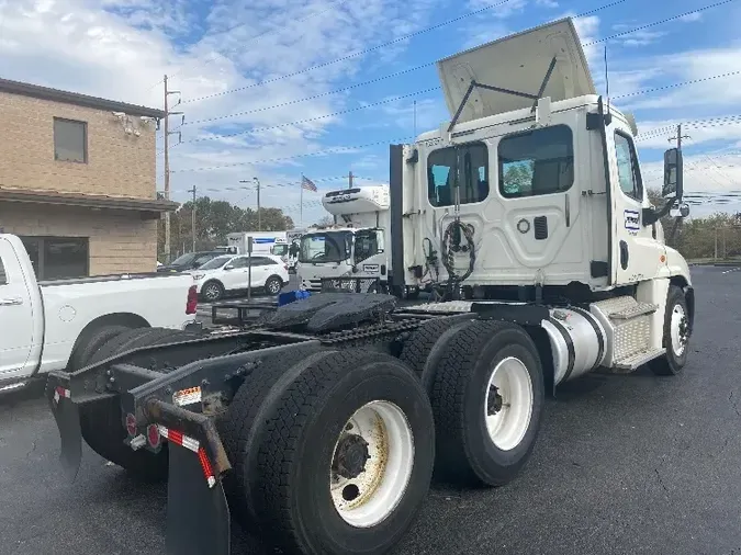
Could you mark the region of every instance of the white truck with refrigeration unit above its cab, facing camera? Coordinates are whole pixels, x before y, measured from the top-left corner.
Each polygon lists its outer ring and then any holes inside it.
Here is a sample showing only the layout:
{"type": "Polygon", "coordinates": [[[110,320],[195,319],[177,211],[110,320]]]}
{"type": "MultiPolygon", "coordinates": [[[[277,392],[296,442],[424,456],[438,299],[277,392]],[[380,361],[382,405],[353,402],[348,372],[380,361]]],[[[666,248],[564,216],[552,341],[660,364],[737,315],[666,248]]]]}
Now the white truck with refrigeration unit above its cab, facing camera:
{"type": "Polygon", "coordinates": [[[391,273],[389,186],[329,191],[322,204],[337,224],[302,236],[296,270],[302,285],[318,291],[323,279],[353,278],[378,280],[385,290],[391,273]]]}

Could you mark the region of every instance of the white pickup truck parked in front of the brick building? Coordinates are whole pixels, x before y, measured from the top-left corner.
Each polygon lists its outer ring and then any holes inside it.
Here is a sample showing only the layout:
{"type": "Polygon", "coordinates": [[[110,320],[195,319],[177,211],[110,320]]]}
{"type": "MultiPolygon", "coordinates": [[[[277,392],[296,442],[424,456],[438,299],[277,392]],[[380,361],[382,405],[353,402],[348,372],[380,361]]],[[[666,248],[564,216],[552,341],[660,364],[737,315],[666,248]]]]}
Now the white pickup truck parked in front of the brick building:
{"type": "Polygon", "coordinates": [[[198,329],[197,305],[190,274],[36,282],[21,239],[0,234],[0,394],[83,366],[127,329],[198,329]]]}

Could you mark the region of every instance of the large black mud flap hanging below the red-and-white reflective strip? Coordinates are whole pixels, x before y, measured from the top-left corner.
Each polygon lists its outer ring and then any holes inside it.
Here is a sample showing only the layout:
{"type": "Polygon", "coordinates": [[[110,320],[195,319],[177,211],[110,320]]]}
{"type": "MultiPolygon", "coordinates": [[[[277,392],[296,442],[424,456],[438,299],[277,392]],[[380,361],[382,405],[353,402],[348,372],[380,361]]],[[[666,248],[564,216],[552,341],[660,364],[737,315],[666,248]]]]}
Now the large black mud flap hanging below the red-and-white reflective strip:
{"type": "Polygon", "coordinates": [[[169,449],[167,554],[228,555],[232,532],[222,480],[209,487],[195,453],[172,442],[169,449]]]}

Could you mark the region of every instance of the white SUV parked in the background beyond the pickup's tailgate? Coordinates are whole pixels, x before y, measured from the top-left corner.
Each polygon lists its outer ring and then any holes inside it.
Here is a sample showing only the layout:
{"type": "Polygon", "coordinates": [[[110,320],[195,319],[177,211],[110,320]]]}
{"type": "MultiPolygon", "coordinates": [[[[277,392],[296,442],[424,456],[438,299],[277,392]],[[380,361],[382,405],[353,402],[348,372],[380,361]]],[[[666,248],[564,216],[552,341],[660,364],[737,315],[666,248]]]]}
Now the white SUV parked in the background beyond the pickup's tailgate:
{"type": "Polygon", "coordinates": [[[246,254],[224,254],[190,272],[195,279],[199,295],[205,301],[214,302],[227,292],[246,290],[248,283],[251,288],[265,290],[270,295],[280,293],[289,281],[285,262],[272,254],[251,257],[251,282],[249,282],[249,260],[246,254]]]}

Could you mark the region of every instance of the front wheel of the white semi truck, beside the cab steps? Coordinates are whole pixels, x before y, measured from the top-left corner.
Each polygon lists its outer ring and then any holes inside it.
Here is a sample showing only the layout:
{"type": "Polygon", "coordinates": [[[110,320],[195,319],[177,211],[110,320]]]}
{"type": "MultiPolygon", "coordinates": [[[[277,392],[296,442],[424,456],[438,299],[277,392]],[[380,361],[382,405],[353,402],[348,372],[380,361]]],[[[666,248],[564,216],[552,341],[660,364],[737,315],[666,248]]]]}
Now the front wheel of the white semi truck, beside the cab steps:
{"type": "Polygon", "coordinates": [[[649,362],[651,371],[659,376],[674,376],[687,363],[687,301],[684,291],[676,285],[669,286],[666,312],[664,313],[664,340],[666,354],[649,362]]]}

